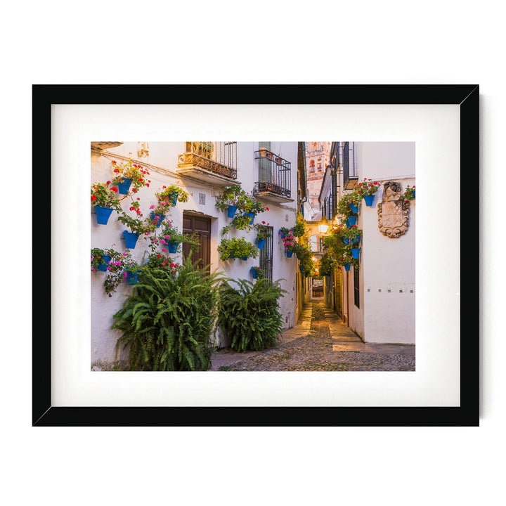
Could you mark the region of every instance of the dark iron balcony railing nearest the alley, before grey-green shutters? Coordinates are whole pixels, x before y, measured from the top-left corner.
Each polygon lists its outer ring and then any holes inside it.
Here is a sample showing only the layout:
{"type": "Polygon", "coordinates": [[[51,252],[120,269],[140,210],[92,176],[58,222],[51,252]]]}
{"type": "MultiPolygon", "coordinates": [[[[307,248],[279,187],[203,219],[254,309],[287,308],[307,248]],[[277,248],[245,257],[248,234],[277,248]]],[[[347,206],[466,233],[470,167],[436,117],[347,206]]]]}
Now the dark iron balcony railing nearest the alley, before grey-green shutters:
{"type": "Polygon", "coordinates": [[[292,195],[291,162],[265,148],[255,151],[255,159],[259,161],[259,180],[254,185],[254,195],[268,192],[289,199],[292,195]]]}

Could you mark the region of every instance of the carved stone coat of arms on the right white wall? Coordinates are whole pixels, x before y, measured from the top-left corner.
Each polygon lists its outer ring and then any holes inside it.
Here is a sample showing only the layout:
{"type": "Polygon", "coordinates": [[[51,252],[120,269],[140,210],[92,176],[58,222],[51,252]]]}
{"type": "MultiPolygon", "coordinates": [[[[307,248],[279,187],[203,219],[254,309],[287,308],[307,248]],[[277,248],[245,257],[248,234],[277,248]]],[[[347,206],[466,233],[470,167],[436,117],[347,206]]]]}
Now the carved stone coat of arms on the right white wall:
{"type": "Polygon", "coordinates": [[[383,183],[383,200],[378,204],[378,228],[383,235],[396,239],[409,228],[410,201],[403,200],[401,183],[383,183]]]}

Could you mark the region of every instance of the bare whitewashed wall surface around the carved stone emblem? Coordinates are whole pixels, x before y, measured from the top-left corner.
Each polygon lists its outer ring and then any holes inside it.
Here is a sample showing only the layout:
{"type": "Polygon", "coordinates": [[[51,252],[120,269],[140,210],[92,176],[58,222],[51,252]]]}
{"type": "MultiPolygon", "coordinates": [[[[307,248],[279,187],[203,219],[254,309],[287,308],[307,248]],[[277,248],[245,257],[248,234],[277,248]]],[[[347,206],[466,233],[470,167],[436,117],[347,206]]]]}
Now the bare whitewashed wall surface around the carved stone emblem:
{"type": "MultiPolygon", "coordinates": [[[[415,144],[368,142],[356,144],[359,180],[383,183],[415,182],[415,144]]],[[[366,342],[415,343],[415,223],[416,200],[410,202],[410,227],[397,239],[387,238],[378,228],[377,204],[361,206],[358,228],[361,242],[361,307],[353,303],[353,268],[349,271],[350,327],[366,342]]]]}

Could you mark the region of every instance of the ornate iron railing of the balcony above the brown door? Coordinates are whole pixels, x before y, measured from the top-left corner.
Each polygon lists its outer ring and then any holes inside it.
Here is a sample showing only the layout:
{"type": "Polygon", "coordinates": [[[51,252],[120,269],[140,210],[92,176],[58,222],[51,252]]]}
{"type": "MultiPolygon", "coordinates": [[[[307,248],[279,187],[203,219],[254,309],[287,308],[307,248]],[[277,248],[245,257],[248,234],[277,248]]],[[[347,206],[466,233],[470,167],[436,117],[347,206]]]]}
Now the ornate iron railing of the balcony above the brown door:
{"type": "Polygon", "coordinates": [[[237,143],[235,141],[191,141],[186,153],[179,155],[178,169],[197,167],[219,176],[237,179],[237,143]]]}

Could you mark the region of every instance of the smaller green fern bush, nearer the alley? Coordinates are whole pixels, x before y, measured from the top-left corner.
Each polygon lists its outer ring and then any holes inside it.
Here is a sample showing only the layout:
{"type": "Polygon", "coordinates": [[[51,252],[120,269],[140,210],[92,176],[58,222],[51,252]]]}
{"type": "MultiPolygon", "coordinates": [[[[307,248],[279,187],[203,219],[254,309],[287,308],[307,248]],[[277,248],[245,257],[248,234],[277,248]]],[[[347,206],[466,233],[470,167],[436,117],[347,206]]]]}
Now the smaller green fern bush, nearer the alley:
{"type": "Polygon", "coordinates": [[[280,287],[280,280],[234,282],[237,289],[224,282],[219,290],[218,323],[231,338],[231,348],[258,351],[274,346],[283,327],[278,299],[287,293],[280,287]]]}

